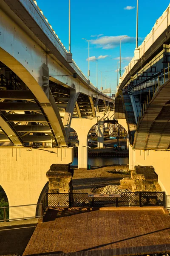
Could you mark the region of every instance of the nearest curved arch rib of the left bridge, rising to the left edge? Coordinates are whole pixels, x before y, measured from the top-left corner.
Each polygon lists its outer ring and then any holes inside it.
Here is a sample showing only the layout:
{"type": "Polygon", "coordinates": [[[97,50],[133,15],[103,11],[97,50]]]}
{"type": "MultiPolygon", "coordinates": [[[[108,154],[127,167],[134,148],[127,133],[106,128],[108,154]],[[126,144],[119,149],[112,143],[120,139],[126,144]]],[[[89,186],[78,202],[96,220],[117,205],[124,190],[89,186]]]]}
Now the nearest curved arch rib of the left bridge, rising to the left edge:
{"type": "Polygon", "coordinates": [[[17,61],[16,58],[2,48],[0,48],[0,61],[9,67],[28,86],[39,102],[40,108],[42,108],[47,116],[48,122],[50,122],[52,131],[54,132],[54,138],[59,137],[58,143],[66,145],[65,130],[55,100],[51,94],[51,91],[49,91],[48,99],[45,91],[42,89],[43,65],[42,69],[39,70],[39,77],[35,79],[26,67],[24,67],[19,61],[17,61]],[[49,106],[47,107],[46,104],[49,106]]]}

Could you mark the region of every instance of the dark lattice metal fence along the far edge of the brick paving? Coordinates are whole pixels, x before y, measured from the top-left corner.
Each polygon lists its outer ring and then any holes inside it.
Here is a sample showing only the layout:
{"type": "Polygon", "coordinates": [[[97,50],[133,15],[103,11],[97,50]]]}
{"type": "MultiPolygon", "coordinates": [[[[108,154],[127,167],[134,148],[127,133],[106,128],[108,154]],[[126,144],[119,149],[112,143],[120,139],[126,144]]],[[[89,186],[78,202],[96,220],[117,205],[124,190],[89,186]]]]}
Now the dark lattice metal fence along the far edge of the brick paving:
{"type": "Polygon", "coordinates": [[[163,206],[165,192],[124,192],[113,195],[89,196],[88,193],[46,193],[42,200],[43,213],[47,207],[121,207],[163,206]]]}

